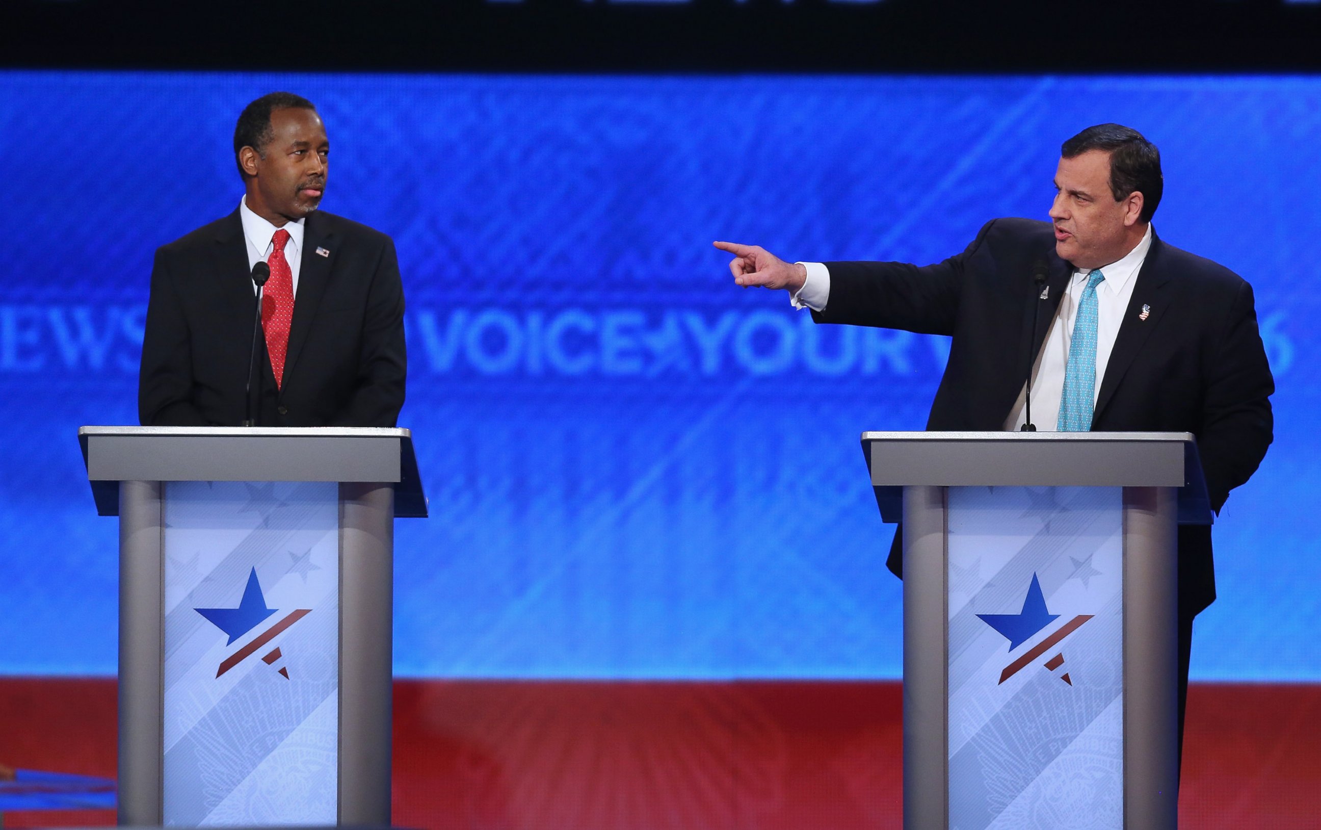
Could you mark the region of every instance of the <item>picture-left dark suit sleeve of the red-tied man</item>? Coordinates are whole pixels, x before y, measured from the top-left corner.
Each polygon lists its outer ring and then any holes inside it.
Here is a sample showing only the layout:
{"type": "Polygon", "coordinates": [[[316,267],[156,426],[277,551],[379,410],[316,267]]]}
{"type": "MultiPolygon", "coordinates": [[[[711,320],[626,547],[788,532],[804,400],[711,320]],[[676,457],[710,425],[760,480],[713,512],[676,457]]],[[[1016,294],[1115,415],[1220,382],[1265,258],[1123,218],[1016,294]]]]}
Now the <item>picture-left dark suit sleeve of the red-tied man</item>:
{"type": "Polygon", "coordinates": [[[193,352],[188,320],[164,250],[152,266],[151,299],[137,375],[137,418],[145,427],[206,427],[192,403],[193,352]]]}

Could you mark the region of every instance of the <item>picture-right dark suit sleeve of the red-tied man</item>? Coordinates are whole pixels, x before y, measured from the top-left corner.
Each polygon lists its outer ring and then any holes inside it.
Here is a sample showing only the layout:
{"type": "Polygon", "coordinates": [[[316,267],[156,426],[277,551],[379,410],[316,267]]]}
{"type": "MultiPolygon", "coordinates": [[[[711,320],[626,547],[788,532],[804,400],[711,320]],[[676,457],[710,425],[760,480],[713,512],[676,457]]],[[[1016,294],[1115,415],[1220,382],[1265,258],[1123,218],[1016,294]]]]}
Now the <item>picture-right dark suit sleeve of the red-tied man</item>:
{"type": "Polygon", "coordinates": [[[407,349],[399,258],[388,239],[371,276],[361,342],[353,394],[329,426],[394,427],[404,404],[407,349]]]}

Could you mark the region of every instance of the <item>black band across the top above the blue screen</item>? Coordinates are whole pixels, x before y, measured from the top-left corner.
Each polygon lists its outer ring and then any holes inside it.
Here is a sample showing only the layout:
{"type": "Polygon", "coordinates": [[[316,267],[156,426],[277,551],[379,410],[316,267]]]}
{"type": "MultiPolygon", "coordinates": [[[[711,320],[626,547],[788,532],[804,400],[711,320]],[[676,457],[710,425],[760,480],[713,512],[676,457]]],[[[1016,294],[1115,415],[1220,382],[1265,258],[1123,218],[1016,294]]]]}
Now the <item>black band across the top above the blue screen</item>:
{"type": "Polygon", "coordinates": [[[0,0],[0,66],[306,71],[1279,73],[1284,0],[0,0]]]}

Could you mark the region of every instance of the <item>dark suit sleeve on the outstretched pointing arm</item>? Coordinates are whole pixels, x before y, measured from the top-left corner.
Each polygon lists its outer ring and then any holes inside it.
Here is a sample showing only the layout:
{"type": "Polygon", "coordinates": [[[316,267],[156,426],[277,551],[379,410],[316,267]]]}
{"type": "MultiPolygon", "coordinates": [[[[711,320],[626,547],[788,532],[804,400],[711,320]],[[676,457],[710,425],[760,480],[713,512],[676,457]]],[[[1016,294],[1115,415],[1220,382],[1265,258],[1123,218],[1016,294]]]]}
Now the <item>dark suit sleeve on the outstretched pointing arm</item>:
{"type": "Polygon", "coordinates": [[[830,262],[830,297],[812,312],[816,322],[843,322],[918,334],[954,334],[964,266],[995,221],[956,256],[934,266],[900,262],[830,262]]]}

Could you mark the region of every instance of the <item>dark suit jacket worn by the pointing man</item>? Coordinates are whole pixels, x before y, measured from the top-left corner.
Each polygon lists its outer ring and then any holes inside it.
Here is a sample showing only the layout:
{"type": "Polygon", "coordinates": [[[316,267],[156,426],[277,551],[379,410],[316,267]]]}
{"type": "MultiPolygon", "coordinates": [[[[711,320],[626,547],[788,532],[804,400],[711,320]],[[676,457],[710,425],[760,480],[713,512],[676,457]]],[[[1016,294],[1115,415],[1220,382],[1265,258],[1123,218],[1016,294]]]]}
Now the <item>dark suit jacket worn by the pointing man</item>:
{"type": "MultiPolygon", "coordinates": [[[[1048,222],[995,219],[962,254],[926,267],[832,262],[818,322],[952,336],[927,430],[1003,430],[1041,350],[1071,266],[1048,222]],[[1049,266],[1036,303],[1033,264],[1049,266]]],[[[1275,391],[1252,288],[1236,274],[1160,239],[1133,284],[1092,416],[1096,431],[1197,436],[1211,506],[1247,481],[1271,444],[1275,391]],[[1143,305],[1151,307],[1139,320],[1143,305]]],[[[1180,527],[1180,605],[1189,619],[1215,599],[1210,527],[1180,527]]],[[[890,570],[902,575],[896,545],[890,570]]]]}

